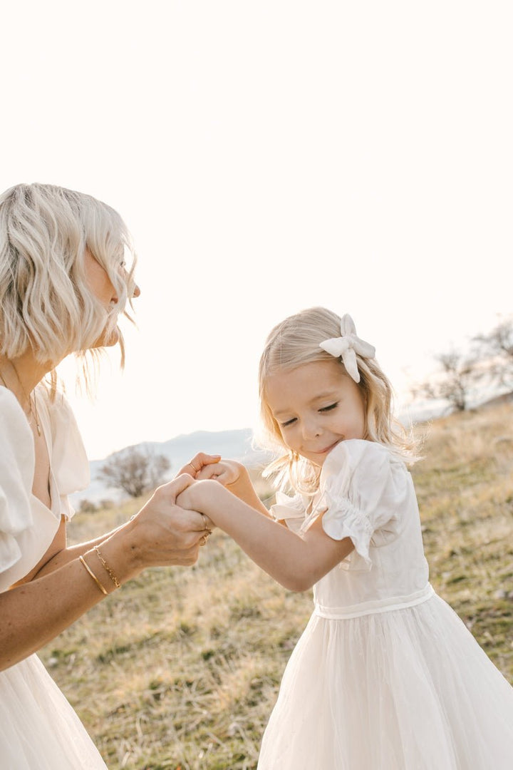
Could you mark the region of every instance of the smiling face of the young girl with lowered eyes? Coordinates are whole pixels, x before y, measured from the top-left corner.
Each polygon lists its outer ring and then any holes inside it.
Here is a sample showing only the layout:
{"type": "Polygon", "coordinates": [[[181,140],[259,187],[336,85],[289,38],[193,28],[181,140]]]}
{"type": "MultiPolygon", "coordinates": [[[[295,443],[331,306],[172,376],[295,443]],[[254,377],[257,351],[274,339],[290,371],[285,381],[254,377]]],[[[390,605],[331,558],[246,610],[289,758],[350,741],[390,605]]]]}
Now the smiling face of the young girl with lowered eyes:
{"type": "Polygon", "coordinates": [[[316,465],[341,441],[365,437],[361,391],[336,359],[274,374],[265,393],[286,446],[316,465]]]}

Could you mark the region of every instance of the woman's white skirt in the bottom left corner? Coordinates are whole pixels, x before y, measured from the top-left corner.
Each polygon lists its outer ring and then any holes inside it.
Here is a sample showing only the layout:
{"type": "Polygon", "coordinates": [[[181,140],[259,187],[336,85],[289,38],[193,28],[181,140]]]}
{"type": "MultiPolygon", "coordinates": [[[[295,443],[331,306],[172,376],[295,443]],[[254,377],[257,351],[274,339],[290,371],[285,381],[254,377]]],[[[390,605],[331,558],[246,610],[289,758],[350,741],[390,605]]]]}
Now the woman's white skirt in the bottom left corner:
{"type": "Polygon", "coordinates": [[[2,770],[107,770],[37,655],[0,672],[2,770]]]}

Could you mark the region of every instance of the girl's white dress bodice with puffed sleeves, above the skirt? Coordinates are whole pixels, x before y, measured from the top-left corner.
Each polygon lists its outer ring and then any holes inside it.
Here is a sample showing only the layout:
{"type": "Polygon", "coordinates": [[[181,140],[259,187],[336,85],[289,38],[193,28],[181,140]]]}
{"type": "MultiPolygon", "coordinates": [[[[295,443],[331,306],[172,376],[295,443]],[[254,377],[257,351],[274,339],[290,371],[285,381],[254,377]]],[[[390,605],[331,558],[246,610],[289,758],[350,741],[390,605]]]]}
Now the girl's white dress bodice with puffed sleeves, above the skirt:
{"type": "Polygon", "coordinates": [[[354,550],[314,586],[319,614],[348,617],[396,600],[415,603],[429,590],[413,481],[381,444],[342,441],[325,460],[315,498],[278,493],[271,512],[298,533],[321,515],[330,537],[351,537],[354,550]]]}

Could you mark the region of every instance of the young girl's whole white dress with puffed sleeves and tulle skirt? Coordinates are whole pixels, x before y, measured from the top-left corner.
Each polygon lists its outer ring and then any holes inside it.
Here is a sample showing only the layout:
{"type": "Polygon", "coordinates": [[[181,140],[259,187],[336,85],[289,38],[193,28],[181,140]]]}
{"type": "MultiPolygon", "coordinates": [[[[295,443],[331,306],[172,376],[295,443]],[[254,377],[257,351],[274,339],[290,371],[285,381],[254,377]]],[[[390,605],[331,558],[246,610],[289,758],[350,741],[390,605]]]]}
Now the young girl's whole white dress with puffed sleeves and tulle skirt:
{"type": "Polygon", "coordinates": [[[513,688],[428,583],[405,464],[347,440],[321,470],[315,510],[281,496],[295,531],[355,550],[314,586],[258,770],[511,770],[513,688]]]}

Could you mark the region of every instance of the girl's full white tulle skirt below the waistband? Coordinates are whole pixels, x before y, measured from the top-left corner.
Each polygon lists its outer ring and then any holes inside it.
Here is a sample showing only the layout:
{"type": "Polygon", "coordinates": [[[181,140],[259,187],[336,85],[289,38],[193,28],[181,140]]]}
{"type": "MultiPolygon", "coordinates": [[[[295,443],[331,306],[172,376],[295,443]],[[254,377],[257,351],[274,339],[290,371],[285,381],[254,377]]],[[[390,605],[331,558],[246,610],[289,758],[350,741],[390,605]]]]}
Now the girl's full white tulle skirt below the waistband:
{"type": "Polygon", "coordinates": [[[438,596],[345,620],[313,614],[258,770],[511,770],[513,688],[438,596]]]}

